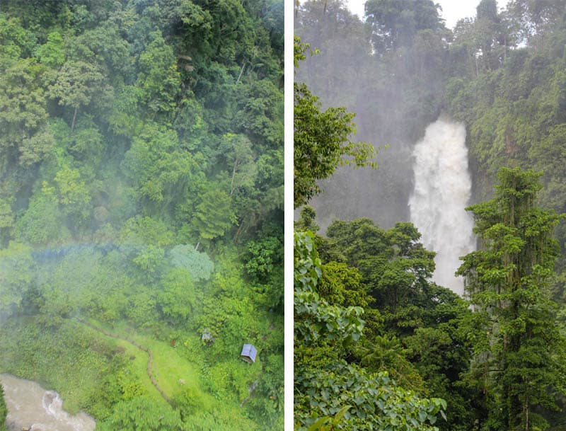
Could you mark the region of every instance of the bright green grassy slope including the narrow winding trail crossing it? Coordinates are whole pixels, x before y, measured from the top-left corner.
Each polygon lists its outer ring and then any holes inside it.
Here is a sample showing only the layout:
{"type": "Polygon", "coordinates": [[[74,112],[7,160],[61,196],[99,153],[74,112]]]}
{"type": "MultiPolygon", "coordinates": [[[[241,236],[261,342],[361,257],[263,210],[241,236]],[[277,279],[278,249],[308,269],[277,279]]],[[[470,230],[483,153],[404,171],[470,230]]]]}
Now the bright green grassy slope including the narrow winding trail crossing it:
{"type": "MultiPolygon", "coordinates": [[[[134,396],[150,398],[161,408],[184,409],[191,422],[222,425],[222,429],[230,429],[224,428],[224,424],[232,424],[232,429],[250,427],[250,418],[243,409],[257,395],[255,385],[260,379],[260,370],[256,367],[253,373],[249,393],[238,399],[243,385],[231,392],[229,385],[234,380],[230,372],[232,369],[242,372],[241,367],[248,369],[248,364],[239,360],[213,362],[212,365],[203,363],[204,355],[200,355],[198,350],[202,342],[197,335],[187,334],[183,343],[173,345],[167,340],[154,338],[151,333],[132,328],[127,321],[117,321],[110,326],[94,318],[63,318],[51,328],[50,338],[42,343],[45,352],[37,352],[37,348],[30,347],[30,344],[40,336],[45,320],[37,320],[37,316],[32,314],[20,316],[24,317],[25,321],[15,324],[15,328],[21,328],[17,336],[6,330],[0,331],[0,338],[10,340],[10,343],[3,344],[7,350],[4,350],[4,356],[0,355],[0,360],[4,361],[0,362],[0,371],[45,382],[45,387],[62,394],[64,408],[71,413],[89,411],[93,406],[92,394],[103,390],[101,388],[106,380],[100,380],[102,377],[117,381],[117,390],[122,389],[127,396],[133,393],[134,396]],[[72,345],[74,350],[69,351],[67,340],[75,336],[78,342],[72,345]],[[18,361],[15,360],[19,358],[17,355],[21,355],[18,361]],[[113,355],[120,358],[110,370],[113,374],[108,374],[108,361],[113,355]],[[47,360],[43,360],[40,363],[42,367],[38,368],[37,361],[42,358],[47,360]],[[22,363],[23,367],[6,367],[6,361],[12,365],[22,363]],[[238,364],[240,368],[237,368],[238,364]],[[217,377],[226,381],[216,384],[212,379],[217,377]]],[[[241,377],[241,374],[235,375],[241,377]]],[[[250,387],[249,382],[246,386],[250,387]]],[[[101,401],[96,408],[108,406],[101,401]]],[[[214,426],[208,428],[220,429],[214,426]]]]}

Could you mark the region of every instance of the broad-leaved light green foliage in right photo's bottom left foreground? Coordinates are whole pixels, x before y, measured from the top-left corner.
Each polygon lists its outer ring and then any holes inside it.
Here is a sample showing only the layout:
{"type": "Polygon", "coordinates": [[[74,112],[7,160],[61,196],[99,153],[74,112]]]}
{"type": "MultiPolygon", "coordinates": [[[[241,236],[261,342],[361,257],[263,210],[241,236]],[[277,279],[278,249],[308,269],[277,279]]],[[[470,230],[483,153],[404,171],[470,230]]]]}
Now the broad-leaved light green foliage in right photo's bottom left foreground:
{"type": "Polygon", "coordinates": [[[333,355],[320,366],[316,356],[325,352],[320,348],[340,350],[357,341],[364,327],[361,307],[330,305],[318,297],[315,289],[321,276],[312,233],[295,233],[294,333],[301,340],[294,362],[295,428],[320,429],[332,422],[330,416],[350,406],[340,419],[343,429],[434,430],[437,414],[444,416],[444,400],[420,398],[396,386],[386,373],[368,372],[345,360],[333,360],[333,355]]]}

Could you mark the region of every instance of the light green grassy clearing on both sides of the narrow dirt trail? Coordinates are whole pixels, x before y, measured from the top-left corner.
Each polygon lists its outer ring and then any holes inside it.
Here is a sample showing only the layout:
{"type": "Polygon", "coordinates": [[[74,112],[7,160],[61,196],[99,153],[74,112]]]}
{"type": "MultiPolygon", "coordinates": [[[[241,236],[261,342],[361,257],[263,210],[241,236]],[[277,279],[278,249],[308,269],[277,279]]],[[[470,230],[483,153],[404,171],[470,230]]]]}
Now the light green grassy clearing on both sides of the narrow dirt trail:
{"type": "MultiPolygon", "coordinates": [[[[180,340],[173,347],[150,335],[135,333],[125,322],[113,327],[93,320],[89,323],[151,350],[154,377],[166,395],[173,398],[175,406],[183,410],[186,423],[191,424],[188,429],[257,429],[242,414],[236,396],[225,388],[236,384],[239,379],[233,378],[238,374],[251,371],[247,364],[237,359],[215,364],[212,369],[201,364],[204,353],[197,336],[180,340]],[[194,362],[187,360],[187,350],[195,350],[194,362]],[[202,374],[203,370],[208,372],[202,374]],[[215,388],[221,382],[222,388],[215,388]]],[[[156,407],[166,410],[167,401],[147,374],[148,354],[121,338],[110,337],[74,320],[62,319],[50,331],[42,331],[40,319],[18,319],[0,328],[0,372],[38,381],[46,389],[61,394],[65,410],[70,413],[85,410],[97,418],[110,413],[108,409],[120,401],[116,397],[122,396],[124,390],[118,383],[109,388],[108,382],[120,381],[120,375],[127,372],[128,384],[137,385],[156,407]]]]}

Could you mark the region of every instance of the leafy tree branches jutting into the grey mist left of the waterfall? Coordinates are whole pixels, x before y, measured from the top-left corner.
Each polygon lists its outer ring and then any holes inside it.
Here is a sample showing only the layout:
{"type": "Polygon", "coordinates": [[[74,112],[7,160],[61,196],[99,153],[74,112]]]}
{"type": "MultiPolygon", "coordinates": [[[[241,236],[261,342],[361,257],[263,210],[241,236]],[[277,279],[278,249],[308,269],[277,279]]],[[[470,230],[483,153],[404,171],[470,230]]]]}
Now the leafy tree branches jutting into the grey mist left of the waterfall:
{"type": "MultiPolygon", "coordinates": [[[[304,59],[308,45],[295,36],[295,65],[304,59]]],[[[320,111],[318,98],[305,84],[294,83],[294,148],[293,179],[294,206],[308,202],[321,190],[316,180],[328,178],[338,166],[371,166],[369,161],[376,149],[365,142],[352,142],[350,135],[356,132],[352,123],[354,114],[346,108],[328,108],[320,111]]]]}

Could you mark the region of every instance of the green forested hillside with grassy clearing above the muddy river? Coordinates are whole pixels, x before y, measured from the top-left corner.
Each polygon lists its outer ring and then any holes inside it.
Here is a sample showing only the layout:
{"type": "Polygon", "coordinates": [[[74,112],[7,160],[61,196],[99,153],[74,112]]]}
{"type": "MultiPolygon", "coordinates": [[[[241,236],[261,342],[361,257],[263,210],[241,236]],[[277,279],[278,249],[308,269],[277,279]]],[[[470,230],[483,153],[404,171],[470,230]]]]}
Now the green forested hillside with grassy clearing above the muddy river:
{"type": "Polygon", "coordinates": [[[277,0],[1,2],[0,372],[282,428],[283,51],[277,0]]]}

